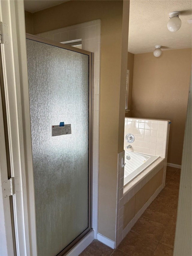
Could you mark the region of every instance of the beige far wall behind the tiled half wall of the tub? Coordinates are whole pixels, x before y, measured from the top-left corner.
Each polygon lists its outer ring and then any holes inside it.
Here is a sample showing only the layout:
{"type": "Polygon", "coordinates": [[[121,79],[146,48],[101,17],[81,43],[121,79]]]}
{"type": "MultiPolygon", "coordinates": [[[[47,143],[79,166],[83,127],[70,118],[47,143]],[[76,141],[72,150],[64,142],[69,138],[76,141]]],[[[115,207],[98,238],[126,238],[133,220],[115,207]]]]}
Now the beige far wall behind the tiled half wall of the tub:
{"type": "Polygon", "coordinates": [[[168,163],[181,165],[191,48],[134,55],[132,117],[171,120],[168,163]]]}

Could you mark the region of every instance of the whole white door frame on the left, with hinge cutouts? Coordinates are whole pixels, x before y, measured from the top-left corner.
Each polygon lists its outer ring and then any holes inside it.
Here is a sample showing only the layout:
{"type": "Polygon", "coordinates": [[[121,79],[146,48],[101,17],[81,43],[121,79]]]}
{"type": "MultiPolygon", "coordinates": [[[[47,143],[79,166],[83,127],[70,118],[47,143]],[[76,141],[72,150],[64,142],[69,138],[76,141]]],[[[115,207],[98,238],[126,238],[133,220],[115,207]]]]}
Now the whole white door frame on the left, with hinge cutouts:
{"type": "MultiPolygon", "coordinates": [[[[20,0],[0,0],[0,21],[6,23],[9,28],[9,43],[1,45],[1,55],[11,176],[19,176],[20,182],[20,191],[13,195],[16,254],[35,256],[37,255],[37,243],[34,183],[32,182],[32,142],[29,114],[24,2],[20,0]]],[[[70,46],[67,46],[66,49],[68,49],[68,47],[70,46]]],[[[72,49],[76,51],[74,47],[72,47],[72,49]]],[[[77,51],[83,53],[82,51],[84,50],[78,49],[77,51]]],[[[91,64],[93,64],[93,58],[91,64]]],[[[93,76],[91,80],[93,80],[93,76]]],[[[93,99],[93,97],[91,98],[93,99]]],[[[93,104],[93,101],[91,104],[93,104]]],[[[93,111],[93,108],[91,111],[93,111]]],[[[91,125],[91,128],[92,127],[93,125],[91,125]]],[[[91,136],[93,136],[92,132],[91,136]]],[[[91,143],[91,147],[92,146],[91,143]]],[[[91,148],[91,154],[92,152],[93,150],[91,148]]],[[[92,167],[92,156],[90,164],[92,167]]],[[[7,170],[4,169],[3,171],[5,172],[7,170]]],[[[92,184],[92,176],[90,179],[92,184]]],[[[92,187],[90,193],[92,195],[92,187]]],[[[90,209],[90,213],[92,213],[92,209],[90,209]]],[[[8,221],[6,221],[6,224],[7,227],[10,227],[8,221]]],[[[13,238],[7,236],[6,239],[7,244],[12,247],[13,238]]],[[[8,255],[13,255],[13,253],[9,253],[8,255]]]]}

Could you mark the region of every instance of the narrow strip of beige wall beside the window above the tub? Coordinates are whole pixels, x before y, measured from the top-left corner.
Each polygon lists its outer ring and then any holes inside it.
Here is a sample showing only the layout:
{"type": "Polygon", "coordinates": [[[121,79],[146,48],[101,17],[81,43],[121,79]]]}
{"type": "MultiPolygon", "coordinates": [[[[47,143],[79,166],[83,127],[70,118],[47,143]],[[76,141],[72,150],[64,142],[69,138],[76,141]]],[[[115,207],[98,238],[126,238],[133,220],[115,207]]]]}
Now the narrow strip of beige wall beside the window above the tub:
{"type": "Polygon", "coordinates": [[[129,70],[129,94],[128,94],[128,113],[125,116],[132,116],[132,89],[133,89],[133,70],[134,70],[134,54],[128,52],[127,69],[129,70]]]}

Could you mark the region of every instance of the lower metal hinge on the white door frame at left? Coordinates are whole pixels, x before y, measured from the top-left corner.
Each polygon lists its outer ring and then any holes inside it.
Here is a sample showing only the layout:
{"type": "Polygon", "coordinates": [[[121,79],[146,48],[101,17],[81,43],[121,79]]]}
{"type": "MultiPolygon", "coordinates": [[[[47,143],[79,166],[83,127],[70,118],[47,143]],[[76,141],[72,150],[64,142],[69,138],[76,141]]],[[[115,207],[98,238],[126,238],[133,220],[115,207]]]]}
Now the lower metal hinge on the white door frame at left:
{"type": "Polygon", "coordinates": [[[19,177],[13,177],[3,182],[3,196],[9,197],[20,191],[19,177]]]}

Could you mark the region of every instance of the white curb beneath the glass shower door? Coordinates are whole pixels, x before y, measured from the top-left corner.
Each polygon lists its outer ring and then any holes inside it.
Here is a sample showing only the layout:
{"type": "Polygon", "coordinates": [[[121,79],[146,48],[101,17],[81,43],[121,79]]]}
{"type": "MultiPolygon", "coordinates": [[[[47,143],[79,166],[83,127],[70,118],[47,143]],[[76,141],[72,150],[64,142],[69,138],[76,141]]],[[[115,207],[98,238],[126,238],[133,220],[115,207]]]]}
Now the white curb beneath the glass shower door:
{"type": "Polygon", "coordinates": [[[88,233],[75,247],[73,247],[66,256],[78,256],[95,239],[95,231],[88,233]]]}

